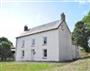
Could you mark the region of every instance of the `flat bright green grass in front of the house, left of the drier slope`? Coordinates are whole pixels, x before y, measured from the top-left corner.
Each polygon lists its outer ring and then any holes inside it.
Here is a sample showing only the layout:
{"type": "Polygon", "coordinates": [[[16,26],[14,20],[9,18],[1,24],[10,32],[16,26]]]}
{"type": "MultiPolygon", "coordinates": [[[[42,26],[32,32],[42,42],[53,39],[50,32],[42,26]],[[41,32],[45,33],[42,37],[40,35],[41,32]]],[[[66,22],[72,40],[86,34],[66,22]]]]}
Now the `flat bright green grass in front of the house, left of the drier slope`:
{"type": "Polygon", "coordinates": [[[0,71],[43,71],[52,69],[55,66],[62,66],[65,63],[45,62],[1,62],[0,71]]]}

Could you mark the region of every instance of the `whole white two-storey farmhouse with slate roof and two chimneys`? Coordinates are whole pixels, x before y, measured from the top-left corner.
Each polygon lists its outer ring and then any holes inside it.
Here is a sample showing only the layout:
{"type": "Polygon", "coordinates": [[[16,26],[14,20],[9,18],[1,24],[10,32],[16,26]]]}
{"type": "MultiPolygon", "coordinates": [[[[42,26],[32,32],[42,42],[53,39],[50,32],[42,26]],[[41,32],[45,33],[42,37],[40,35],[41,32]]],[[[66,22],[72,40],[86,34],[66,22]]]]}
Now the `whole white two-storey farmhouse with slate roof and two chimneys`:
{"type": "Polygon", "coordinates": [[[50,22],[24,32],[16,38],[16,61],[66,61],[79,58],[79,49],[72,45],[65,21],[50,22]]]}

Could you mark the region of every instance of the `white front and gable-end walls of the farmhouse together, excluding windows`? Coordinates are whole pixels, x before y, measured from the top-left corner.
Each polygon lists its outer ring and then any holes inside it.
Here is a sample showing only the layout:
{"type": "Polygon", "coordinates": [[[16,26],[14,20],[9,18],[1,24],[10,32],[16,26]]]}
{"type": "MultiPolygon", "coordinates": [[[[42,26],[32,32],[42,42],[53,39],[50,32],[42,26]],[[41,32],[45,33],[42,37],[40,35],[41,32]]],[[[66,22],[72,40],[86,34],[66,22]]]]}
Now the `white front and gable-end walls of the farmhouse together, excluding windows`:
{"type": "MultiPolygon", "coordinates": [[[[78,50],[78,49],[77,49],[78,50]]],[[[16,46],[16,61],[64,61],[72,60],[76,57],[76,48],[73,48],[71,42],[71,34],[65,23],[56,30],[46,31],[33,34],[30,36],[17,39],[16,46]],[[63,26],[63,27],[62,27],[63,26]],[[62,31],[62,28],[64,29],[62,31]],[[43,45],[43,37],[47,37],[47,45],[43,45]],[[32,47],[32,39],[35,39],[35,47],[32,47]],[[25,40],[25,47],[21,48],[22,41],[25,40]],[[31,49],[35,49],[36,54],[33,59],[31,49]],[[43,59],[43,49],[47,49],[47,58],[43,59]],[[25,51],[25,56],[22,58],[21,51],[25,51]]],[[[77,51],[78,52],[78,51],[77,51]]],[[[79,56],[79,53],[78,53],[79,56]]]]}

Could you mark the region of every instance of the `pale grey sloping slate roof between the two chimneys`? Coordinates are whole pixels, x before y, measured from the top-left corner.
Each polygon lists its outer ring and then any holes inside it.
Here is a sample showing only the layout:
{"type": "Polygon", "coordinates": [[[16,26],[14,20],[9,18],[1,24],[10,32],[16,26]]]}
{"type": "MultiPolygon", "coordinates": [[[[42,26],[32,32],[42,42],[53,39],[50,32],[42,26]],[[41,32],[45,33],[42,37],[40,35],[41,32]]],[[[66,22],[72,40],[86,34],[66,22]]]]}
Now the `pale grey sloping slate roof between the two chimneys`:
{"type": "Polygon", "coordinates": [[[58,28],[58,26],[60,24],[61,24],[61,20],[56,20],[56,21],[53,21],[53,22],[50,22],[50,23],[47,23],[47,24],[44,24],[44,25],[41,25],[41,26],[37,26],[37,27],[31,28],[31,29],[29,29],[29,31],[24,31],[18,37],[23,37],[23,36],[27,36],[27,35],[43,32],[43,31],[52,30],[52,29],[58,28]]]}

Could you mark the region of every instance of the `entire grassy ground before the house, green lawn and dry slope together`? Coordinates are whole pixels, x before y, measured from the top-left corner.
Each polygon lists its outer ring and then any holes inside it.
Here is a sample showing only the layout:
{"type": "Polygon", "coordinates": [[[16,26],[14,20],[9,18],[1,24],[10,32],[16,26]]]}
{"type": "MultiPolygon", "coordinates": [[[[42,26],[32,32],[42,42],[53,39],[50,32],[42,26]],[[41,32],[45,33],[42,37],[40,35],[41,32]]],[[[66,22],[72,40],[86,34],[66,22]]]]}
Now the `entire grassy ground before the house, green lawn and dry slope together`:
{"type": "Polygon", "coordinates": [[[73,62],[61,63],[0,62],[0,71],[90,71],[90,56],[73,62]]]}

